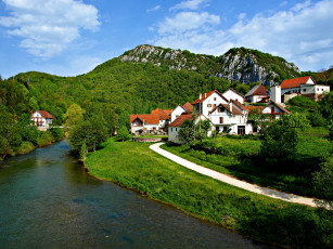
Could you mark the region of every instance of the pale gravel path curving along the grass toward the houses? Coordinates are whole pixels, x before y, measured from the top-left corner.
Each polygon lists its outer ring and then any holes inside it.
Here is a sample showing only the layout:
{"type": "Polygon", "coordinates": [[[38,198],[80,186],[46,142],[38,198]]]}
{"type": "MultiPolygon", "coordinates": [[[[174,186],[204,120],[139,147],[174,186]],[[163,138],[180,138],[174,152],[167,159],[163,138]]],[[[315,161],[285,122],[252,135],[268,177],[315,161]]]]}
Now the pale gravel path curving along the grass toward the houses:
{"type": "Polygon", "coordinates": [[[155,153],[158,153],[159,155],[170,159],[171,161],[177,162],[178,165],[181,165],[190,170],[196,171],[201,174],[214,178],[216,180],[219,180],[221,182],[228,183],[230,185],[243,188],[245,191],[249,191],[253,193],[257,193],[260,195],[265,195],[265,196],[269,196],[271,198],[276,198],[276,199],[282,199],[285,201],[290,201],[290,202],[294,202],[294,204],[302,204],[302,205],[307,205],[307,206],[311,206],[311,207],[316,207],[316,204],[313,202],[312,198],[307,198],[307,197],[302,197],[302,196],[297,196],[297,195],[293,195],[293,194],[286,194],[283,192],[279,192],[279,191],[273,191],[267,187],[261,187],[258,185],[254,185],[238,179],[234,179],[232,176],[229,176],[227,174],[217,172],[215,170],[210,170],[207,169],[205,167],[195,165],[189,160],[185,160],[179,156],[176,156],[172,153],[169,153],[163,148],[161,148],[159,146],[164,144],[164,143],[156,143],[150,146],[150,148],[152,150],[154,150],[155,153]]]}

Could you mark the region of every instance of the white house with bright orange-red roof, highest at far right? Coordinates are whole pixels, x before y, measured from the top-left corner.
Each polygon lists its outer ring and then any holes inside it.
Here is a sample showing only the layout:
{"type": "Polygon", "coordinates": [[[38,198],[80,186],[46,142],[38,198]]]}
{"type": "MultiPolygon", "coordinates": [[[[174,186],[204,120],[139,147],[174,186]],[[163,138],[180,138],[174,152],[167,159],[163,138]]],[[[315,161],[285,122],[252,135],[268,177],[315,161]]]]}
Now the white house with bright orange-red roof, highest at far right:
{"type": "Polygon", "coordinates": [[[283,102],[287,102],[296,95],[303,95],[313,101],[318,101],[322,94],[330,92],[330,86],[316,84],[311,76],[286,79],[281,83],[281,95],[283,95],[283,102]]]}

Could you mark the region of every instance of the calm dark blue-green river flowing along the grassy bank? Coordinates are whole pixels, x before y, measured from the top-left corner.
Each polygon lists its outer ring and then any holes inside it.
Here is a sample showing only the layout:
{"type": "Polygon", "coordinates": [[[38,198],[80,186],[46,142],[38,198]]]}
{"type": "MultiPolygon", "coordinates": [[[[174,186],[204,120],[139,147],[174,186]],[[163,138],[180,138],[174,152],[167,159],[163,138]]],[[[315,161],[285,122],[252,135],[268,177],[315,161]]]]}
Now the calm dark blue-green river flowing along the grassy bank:
{"type": "Polygon", "coordinates": [[[68,150],[0,163],[0,248],[269,248],[94,179],[68,150]]]}

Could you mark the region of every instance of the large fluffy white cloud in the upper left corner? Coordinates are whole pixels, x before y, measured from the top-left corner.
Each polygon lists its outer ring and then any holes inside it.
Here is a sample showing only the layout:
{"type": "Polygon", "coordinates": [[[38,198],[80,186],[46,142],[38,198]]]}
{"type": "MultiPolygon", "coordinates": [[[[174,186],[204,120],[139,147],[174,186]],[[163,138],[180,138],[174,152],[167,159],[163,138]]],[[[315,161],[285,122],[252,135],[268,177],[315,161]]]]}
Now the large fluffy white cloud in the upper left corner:
{"type": "Polygon", "coordinates": [[[74,0],[3,0],[10,16],[0,16],[8,34],[23,38],[27,52],[51,57],[60,54],[76,38],[80,29],[97,30],[100,26],[93,5],[74,0]]]}

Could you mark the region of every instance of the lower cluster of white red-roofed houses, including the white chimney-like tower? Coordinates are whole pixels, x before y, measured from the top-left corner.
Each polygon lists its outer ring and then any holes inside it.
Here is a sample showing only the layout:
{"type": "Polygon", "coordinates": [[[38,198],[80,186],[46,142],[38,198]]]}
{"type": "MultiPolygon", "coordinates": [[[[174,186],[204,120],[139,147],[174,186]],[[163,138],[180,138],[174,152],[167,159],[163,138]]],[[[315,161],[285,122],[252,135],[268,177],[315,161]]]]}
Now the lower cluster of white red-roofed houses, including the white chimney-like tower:
{"type": "MultiPolygon", "coordinates": [[[[277,86],[272,87],[272,92],[277,86]]],[[[198,120],[208,120],[210,131],[228,131],[231,134],[249,134],[253,132],[252,124],[247,123],[248,113],[256,108],[259,114],[267,114],[270,119],[278,119],[281,115],[290,114],[280,103],[279,94],[272,95],[269,103],[262,106],[245,106],[245,96],[233,89],[223,93],[217,90],[200,94],[192,104],[178,105],[174,110],[155,109],[149,115],[131,115],[131,133],[158,133],[168,131],[168,139],[174,143],[182,143],[179,140],[179,131],[184,120],[195,117],[198,120]]],[[[209,135],[209,134],[208,134],[209,135]]]]}

